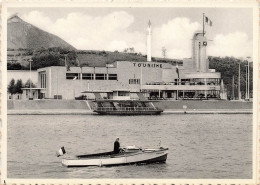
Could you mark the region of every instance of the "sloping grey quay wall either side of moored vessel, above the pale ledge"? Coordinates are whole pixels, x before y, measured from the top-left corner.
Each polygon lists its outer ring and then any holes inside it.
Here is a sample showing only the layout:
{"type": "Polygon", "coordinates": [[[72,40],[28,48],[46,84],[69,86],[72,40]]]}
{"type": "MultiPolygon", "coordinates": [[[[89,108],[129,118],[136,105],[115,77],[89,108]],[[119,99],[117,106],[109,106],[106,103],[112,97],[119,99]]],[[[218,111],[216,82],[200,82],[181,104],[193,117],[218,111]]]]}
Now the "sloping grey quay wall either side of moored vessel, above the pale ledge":
{"type": "MultiPolygon", "coordinates": [[[[161,100],[153,101],[154,105],[162,109],[253,109],[252,102],[227,100],[161,100]]],[[[8,100],[8,110],[39,110],[39,109],[84,109],[90,110],[91,101],[85,100],[8,100]]]]}

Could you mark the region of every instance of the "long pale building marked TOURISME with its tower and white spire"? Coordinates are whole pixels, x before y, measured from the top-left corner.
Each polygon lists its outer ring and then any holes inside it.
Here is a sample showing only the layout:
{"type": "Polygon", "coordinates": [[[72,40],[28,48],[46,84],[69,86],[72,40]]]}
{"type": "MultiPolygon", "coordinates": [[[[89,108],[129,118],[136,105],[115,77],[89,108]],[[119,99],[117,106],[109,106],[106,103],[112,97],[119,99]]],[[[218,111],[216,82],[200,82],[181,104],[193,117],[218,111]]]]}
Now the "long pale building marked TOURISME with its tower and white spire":
{"type": "Polygon", "coordinates": [[[124,89],[144,92],[148,99],[223,99],[221,74],[209,69],[202,31],[192,38],[192,57],[170,64],[151,61],[151,29],[149,21],[147,62],[116,61],[104,67],[70,67],[69,71],[65,66],[41,68],[37,87],[24,89],[25,98],[75,99],[85,96],[84,91],[124,89]]]}

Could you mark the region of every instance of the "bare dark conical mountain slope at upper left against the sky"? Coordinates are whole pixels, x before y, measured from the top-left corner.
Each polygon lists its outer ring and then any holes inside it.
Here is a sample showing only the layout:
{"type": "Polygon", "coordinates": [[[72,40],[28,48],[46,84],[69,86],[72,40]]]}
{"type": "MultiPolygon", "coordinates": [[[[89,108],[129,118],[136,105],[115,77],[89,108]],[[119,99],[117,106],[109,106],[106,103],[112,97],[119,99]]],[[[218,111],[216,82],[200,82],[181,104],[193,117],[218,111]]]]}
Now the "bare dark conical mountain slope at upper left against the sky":
{"type": "MultiPolygon", "coordinates": [[[[46,25],[48,26],[48,25],[46,25]]],[[[56,35],[37,28],[14,15],[7,21],[7,48],[38,49],[61,47],[76,50],[72,45],[56,35]]]]}

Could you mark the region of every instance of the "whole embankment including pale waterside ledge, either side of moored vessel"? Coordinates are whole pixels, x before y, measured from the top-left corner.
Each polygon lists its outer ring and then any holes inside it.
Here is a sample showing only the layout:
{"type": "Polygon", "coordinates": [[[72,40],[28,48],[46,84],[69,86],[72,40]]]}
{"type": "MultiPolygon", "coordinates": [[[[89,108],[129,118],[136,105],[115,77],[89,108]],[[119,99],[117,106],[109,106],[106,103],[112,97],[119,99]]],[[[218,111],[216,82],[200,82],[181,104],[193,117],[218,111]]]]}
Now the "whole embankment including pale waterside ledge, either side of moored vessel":
{"type": "MultiPolygon", "coordinates": [[[[200,100],[179,100],[179,101],[154,101],[154,105],[164,109],[164,113],[184,113],[183,106],[186,106],[186,113],[211,114],[230,113],[244,114],[252,113],[253,103],[245,101],[200,101],[200,100]]],[[[93,106],[91,101],[85,100],[8,100],[8,114],[93,114],[90,110],[93,106]]]]}

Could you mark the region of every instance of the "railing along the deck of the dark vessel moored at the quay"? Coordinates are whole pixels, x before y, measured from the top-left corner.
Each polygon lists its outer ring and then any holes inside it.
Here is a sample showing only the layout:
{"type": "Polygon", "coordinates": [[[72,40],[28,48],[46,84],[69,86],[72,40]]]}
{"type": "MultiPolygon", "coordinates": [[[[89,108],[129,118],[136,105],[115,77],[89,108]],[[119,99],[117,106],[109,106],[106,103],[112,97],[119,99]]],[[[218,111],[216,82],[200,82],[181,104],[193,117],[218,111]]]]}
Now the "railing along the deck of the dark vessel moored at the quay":
{"type": "Polygon", "coordinates": [[[94,107],[95,111],[151,111],[156,107],[94,107]]]}

